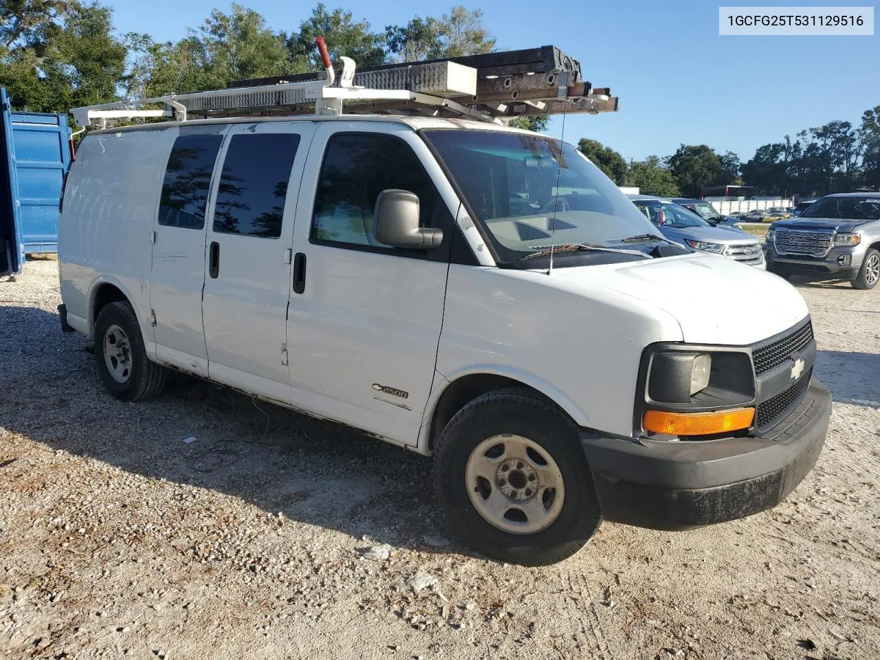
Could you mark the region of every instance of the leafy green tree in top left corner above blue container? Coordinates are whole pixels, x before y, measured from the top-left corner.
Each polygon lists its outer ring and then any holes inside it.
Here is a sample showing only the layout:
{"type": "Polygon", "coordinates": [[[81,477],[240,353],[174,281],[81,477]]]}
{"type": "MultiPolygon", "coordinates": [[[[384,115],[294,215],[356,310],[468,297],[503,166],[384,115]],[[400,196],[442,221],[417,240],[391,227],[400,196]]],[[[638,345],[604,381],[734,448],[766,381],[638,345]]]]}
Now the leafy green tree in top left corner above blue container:
{"type": "Polygon", "coordinates": [[[66,112],[116,98],[125,45],[99,4],[13,0],[0,6],[0,85],[16,108],[66,112]]]}

